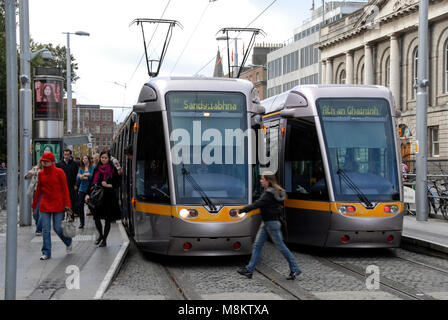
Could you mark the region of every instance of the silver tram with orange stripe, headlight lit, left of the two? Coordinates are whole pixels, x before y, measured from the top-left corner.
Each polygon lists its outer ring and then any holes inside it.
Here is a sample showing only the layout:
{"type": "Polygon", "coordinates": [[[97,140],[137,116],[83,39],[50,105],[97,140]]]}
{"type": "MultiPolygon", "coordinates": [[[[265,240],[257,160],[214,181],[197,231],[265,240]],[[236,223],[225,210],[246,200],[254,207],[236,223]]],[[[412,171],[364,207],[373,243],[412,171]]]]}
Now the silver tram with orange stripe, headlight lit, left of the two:
{"type": "Polygon", "coordinates": [[[141,250],[250,254],[260,214],[236,209],[252,201],[254,141],[244,133],[257,113],[246,80],[155,77],[143,86],[112,146],[123,164],[123,222],[141,250]]]}

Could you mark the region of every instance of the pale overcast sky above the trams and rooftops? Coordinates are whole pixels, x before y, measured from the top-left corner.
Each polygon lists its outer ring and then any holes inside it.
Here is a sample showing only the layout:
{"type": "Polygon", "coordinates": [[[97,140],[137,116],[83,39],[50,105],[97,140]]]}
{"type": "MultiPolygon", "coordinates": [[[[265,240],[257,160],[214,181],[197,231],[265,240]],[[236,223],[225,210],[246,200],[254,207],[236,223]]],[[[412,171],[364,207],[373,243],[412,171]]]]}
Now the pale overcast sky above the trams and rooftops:
{"type": "MultiPolygon", "coordinates": [[[[321,6],[321,0],[315,2],[316,8],[321,6]]],[[[79,76],[72,85],[73,98],[78,104],[132,107],[149,79],[141,26],[130,25],[134,19],[162,17],[181,24],[173,29],[160,76],[212,76],[218,47],[227,55],[225,41],[216,40],[219,30],[260,28],[266,35],[257,36],[256,43],[282,43],[311,17],[311,5],[312,0],[29,0],[30,36],[66,46],[63,32],[89,32],[89,37],[70,36],[79,76]]],[[[166,26],[144,24],[150,59],[161,53],[166,26]]],[[[236,36],[241,62],[249,34],[230,35],[236,36]]],[[[130,110],[114,109],[114,120],[124,120],[130,110]]]]}

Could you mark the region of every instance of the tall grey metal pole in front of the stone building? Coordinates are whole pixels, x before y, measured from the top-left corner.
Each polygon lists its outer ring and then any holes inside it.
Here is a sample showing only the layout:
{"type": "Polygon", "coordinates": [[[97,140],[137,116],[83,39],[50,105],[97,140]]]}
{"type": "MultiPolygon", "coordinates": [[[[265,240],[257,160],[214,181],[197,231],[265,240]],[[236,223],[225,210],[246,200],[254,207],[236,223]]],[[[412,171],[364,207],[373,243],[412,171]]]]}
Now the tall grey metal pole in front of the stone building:
{"type": "Polygon", "coordinates": [[[418,27],[418,81],[417,81],[417,145],[416,145],[416,206],[417,221],[428,220],[428,198],[427,198],[427,162],[426,162],[426,110],[428,104],[429,86],[426,63],[428,60],[427,38],[428,38],[428,0],[420,0],[418,27]]]}

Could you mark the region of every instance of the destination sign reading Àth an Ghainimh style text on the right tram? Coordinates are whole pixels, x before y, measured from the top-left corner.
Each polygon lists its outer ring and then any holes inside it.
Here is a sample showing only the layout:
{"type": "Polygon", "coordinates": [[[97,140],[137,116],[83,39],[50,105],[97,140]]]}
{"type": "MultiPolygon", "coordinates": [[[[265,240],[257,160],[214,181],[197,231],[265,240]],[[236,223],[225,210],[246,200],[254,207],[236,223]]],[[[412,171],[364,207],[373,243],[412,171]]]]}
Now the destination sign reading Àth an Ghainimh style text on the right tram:
{"type": "Polygon", "coordinates": [[[318,105],[323,117],[384,117],[388,111],[382,99],[322,99],[318,105]]]}

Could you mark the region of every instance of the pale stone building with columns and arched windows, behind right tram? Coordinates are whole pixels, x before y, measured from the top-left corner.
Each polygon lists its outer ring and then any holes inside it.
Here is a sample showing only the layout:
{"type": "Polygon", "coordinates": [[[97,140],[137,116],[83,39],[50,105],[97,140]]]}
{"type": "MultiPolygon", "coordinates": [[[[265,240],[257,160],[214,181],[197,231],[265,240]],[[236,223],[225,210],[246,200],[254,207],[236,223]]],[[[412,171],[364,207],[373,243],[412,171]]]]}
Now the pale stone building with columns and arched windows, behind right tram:
{"type": "MultiPolygon", "coordinates": [[[[390,88],[401,152],[413,160],[416,142],[418,0],[373,0],[321,29],[322,83],[390,88]]],[[[429,1],[428,160],[448,160],[448,1],[429,1]]],[[[440,173],[440,171],[439,171],[440,173]]]]}

